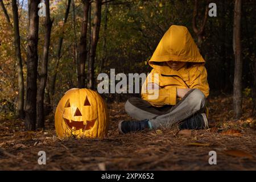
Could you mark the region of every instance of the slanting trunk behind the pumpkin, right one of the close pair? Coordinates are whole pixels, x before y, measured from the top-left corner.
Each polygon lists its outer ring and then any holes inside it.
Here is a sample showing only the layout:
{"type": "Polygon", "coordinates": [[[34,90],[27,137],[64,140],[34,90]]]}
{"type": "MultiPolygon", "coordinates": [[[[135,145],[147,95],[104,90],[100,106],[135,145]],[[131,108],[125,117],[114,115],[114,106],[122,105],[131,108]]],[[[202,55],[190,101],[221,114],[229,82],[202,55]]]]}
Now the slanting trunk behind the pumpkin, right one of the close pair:
{"type": "Polygon", "coordinates": [[[94,88],[94,62],[96,58],[96,48],[101,24],[101,0],[96,0],[93,11],[93,29],[90,36],[90,58],[88,68],[88,88],[94,88]]]}

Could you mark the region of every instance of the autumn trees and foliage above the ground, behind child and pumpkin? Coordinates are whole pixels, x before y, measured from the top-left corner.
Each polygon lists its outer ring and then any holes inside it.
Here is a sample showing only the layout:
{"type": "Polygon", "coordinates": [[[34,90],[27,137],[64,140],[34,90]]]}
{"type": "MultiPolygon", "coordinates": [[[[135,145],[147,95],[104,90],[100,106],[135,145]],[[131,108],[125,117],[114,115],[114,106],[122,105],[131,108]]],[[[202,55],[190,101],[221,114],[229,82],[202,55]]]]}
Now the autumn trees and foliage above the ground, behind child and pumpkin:
{"type": "MultiPolygon", "coordinates": [[[[217,5],[217,16],[210,17],[209,1],[54,0],[46,1],[49,5],[46,17],[38,20],[35,16],[39,9],[35,4],[40,1],[0,2],[1,117],[24,118],[25,111],[30,110],[26,104],[35,106],[36,95],[31,90],[36,88],[27,82],[35,75],[37,94],[41,93],[44,98],[43,112],[47,115],[54,111],[68,89],[97,89],[99,73],[109,74],[112,68],[115,73],[150,72],[147,60],[172,24],[188,27],[199,46],[206,60],[210,97],[233,93],[235,1],[211,1],[217,5]],[[39,22],[38,38],[33,34],[36,21],[39,22]],[[36,52],[37,63],[33,57],[36,52]]],[[[241,90],[242,97],[254,103],[255,9],[255,1],[242,1],[241,90]]],[[[130,94],[104,94],[103,97],[108,102],[125,101],[130,94]]],[[[42,99],[40,102],[42,104],[42,99]]],[[[255,109],[251,110],[255,114],[255,109]]],[[[29,111],[27,114],[30,115],[29,111]]],[[[34,127],[27,125],[27,129],[34,127]]]]}

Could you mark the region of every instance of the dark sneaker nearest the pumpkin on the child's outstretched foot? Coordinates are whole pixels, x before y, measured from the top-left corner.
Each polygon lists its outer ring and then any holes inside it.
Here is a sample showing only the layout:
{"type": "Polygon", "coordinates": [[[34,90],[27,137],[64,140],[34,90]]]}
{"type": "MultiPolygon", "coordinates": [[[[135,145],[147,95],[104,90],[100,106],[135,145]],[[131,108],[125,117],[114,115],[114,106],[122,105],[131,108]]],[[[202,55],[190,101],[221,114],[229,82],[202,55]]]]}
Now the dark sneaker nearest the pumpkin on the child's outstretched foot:
{"type": "Polygon", "coordinates": [[[126,134],[134,131],[141,131],[148,128],[148,119],[142,121],[121,121],[118,124],[120,133],[126,134]]]}

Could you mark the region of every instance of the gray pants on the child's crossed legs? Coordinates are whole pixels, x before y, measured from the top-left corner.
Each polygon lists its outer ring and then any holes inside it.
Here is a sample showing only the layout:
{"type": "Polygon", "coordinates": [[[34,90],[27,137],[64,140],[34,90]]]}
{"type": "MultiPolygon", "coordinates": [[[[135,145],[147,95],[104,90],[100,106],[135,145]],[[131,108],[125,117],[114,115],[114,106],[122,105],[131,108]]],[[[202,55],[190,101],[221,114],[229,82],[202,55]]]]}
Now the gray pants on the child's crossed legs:
{"type": "Polygon", "coordinates": [[[176,105],[154,107],[149,102],[138,97],[126,101],[125,111],[137,120],[149,119],[150,129],[170,127],[174,123],[192,117],[205,110],[205,96],[199,89],[189,90],[176,105]]]}

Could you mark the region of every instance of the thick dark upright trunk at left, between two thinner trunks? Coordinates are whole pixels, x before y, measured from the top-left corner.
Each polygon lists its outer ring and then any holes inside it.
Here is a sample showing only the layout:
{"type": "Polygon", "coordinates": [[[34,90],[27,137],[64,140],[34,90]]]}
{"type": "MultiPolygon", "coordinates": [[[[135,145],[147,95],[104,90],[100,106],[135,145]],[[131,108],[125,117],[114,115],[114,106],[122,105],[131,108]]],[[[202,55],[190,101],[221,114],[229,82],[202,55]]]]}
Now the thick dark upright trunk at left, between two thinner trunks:
{"type": "Polygon", "coordinates": [[[26,94],[26,130],[36,128],[36,78],[38,69],[38,5],[40,0],[28,1],[28,46],[27,46],[27,94],[26,94]]]}

